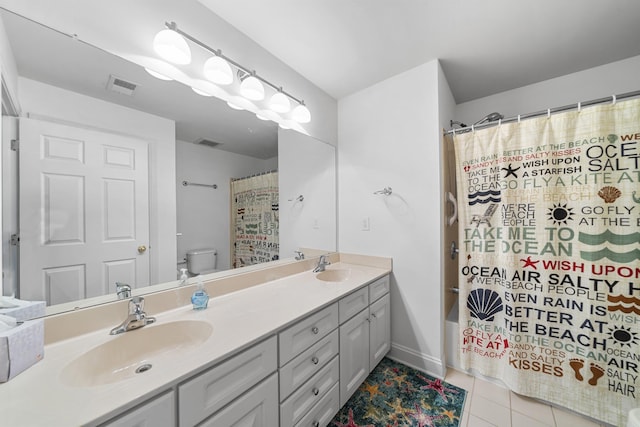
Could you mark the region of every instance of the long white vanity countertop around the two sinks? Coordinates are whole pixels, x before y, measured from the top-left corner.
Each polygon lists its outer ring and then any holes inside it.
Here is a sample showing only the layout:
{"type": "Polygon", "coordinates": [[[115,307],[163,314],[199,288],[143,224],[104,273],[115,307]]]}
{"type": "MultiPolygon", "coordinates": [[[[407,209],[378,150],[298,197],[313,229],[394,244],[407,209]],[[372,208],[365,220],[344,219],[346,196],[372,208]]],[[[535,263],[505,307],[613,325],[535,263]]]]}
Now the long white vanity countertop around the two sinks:
{"type": "Polygon", "coordinates": [[[391,271],[345,262],[327,267],[332,269],[350,269],[351,273],[343,282],[324,282],[306,271],[212,298],[203,311],[185,306],[148,313],[157,320],[145,328],[175,320],[203,320],[213,326],[213,332],[195,349],[152,357],[151,370],[116,383],[77,387],[61,380],[63,368],[71,361],[95,346],[119,338],[109,335],[110,328],[48,345],[42,361],[0,384],[0,424],[76,426],[107,421],[117,412],[189,378],[194,371],[213,366],[391,271]]]}

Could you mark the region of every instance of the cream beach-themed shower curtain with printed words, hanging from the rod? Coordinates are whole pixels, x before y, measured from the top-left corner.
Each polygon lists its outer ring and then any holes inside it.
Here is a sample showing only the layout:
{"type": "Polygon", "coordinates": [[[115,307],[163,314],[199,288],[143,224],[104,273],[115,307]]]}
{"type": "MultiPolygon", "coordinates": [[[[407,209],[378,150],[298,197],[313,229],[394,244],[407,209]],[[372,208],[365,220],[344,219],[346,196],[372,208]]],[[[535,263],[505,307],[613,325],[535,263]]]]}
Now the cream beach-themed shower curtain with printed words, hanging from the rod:
{"type": "Polygon", "coordinates": [[[640,100],[454,143],[462,366],[626,425],[640,406],[640,100]]]}

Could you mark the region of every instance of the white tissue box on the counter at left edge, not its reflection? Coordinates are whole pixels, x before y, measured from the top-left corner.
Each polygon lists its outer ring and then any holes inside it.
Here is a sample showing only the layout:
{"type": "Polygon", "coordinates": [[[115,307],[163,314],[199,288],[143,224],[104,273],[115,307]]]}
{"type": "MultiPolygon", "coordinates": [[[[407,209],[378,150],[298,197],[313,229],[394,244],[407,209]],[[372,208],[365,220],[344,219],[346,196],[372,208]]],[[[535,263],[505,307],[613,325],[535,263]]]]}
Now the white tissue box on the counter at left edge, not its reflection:
{"type": "Polygon", "coordinates": [[[44,357],[44,320],[28,320],[0,332],[0,383],[7,382],[44,357]]]}

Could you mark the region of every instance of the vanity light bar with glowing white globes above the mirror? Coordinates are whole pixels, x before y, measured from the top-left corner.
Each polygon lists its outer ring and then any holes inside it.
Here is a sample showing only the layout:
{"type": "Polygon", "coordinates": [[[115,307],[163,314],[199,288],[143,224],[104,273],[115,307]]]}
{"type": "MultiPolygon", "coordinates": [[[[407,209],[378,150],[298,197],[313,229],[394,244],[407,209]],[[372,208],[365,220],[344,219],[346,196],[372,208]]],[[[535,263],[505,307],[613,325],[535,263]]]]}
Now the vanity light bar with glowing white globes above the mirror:
{"type": "MultiPolygon", "coordinates": [[[[290,128],[286,122],[294,121],[297,123],[309,123],[311,121],[311,112],[304,104],[303,100],[285,92],[281,86],[274,85],[265,78],[259,76],[254,70],[250,70],[228,56],[225,56],[219,49],[213,49],[195,37],[180,30],[175,22],[165,22],[165,27],[166,30],[162,30],[158,35],[156,35],[156,38],[154,39],[154,48],[156,49],[156,52],[166,60],[176,64],[190,63],[191,50],[187,44],[187,41],[190,41],[213,55],[205,62],[202,68],[204,77],[208,81],[219,85],[231,84],[234,79],[232,67],[237,69],[237,75],[240,79],[240,94],[244,97],[244,101],[240,101],[238,99],[240,97],[238,96],[225,97],[227,104],[231,108],[249,110],[252,112],[260,110],[261,107],[254,105],[251,101],[262,101],[265,98],[264,85],[267,85],[275,90],[275,94],[273,94],[266,103],[273,114],[264,114],[261,112],[261,119],[264,120],[266,118],[268,120],[275,121],[283,128],[290,128]],[[177,38],[175,37],[176,35],[178,36],[177,38]],[[171,42],[167,40],[170,40],[171,42]],[[180,53],[182,53],[183,57],[188,56],[188,60],[183,58],[183,62],[178,62],[175,57],[169,57],[168,52],[178,52],[176,56],[180,56],[180,53]],[[291,101],[298,103],[293,111],[291,111],[291,101]],[[287,118],[280,116],[279,114],[289,114],[290,116],[287,118]]],[[[208,93],[208,91],[206,92],[208,93]]],[[[213,95],[216,96],[215,94],[213,95]]]]}

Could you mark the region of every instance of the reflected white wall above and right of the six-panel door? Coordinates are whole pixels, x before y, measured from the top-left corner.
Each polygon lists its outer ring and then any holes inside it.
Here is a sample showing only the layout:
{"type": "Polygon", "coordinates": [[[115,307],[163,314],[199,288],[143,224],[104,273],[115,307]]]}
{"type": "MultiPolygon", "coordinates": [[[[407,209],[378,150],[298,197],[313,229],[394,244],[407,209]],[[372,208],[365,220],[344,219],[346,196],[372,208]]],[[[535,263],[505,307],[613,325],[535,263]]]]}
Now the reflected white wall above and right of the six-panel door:
{"type": "Polygon", "coordinates": [[[175,280],[175,123],[141,111],[25,78],[18,79],[23,115],[47,117],[149,141],[150,282],[175,280]]]}

